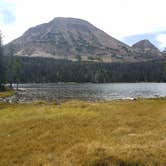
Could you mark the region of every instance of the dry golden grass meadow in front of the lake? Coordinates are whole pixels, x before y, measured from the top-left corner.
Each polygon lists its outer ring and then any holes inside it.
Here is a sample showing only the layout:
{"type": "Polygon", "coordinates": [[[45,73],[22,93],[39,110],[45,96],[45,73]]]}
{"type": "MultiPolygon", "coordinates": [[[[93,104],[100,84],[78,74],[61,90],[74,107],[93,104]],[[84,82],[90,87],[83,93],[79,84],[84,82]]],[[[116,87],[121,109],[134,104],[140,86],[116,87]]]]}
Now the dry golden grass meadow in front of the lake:
{"type": "Polygon", "coordinates": [[[165,165],[165,99],[0,104],[0,166],[165,165]]]}

